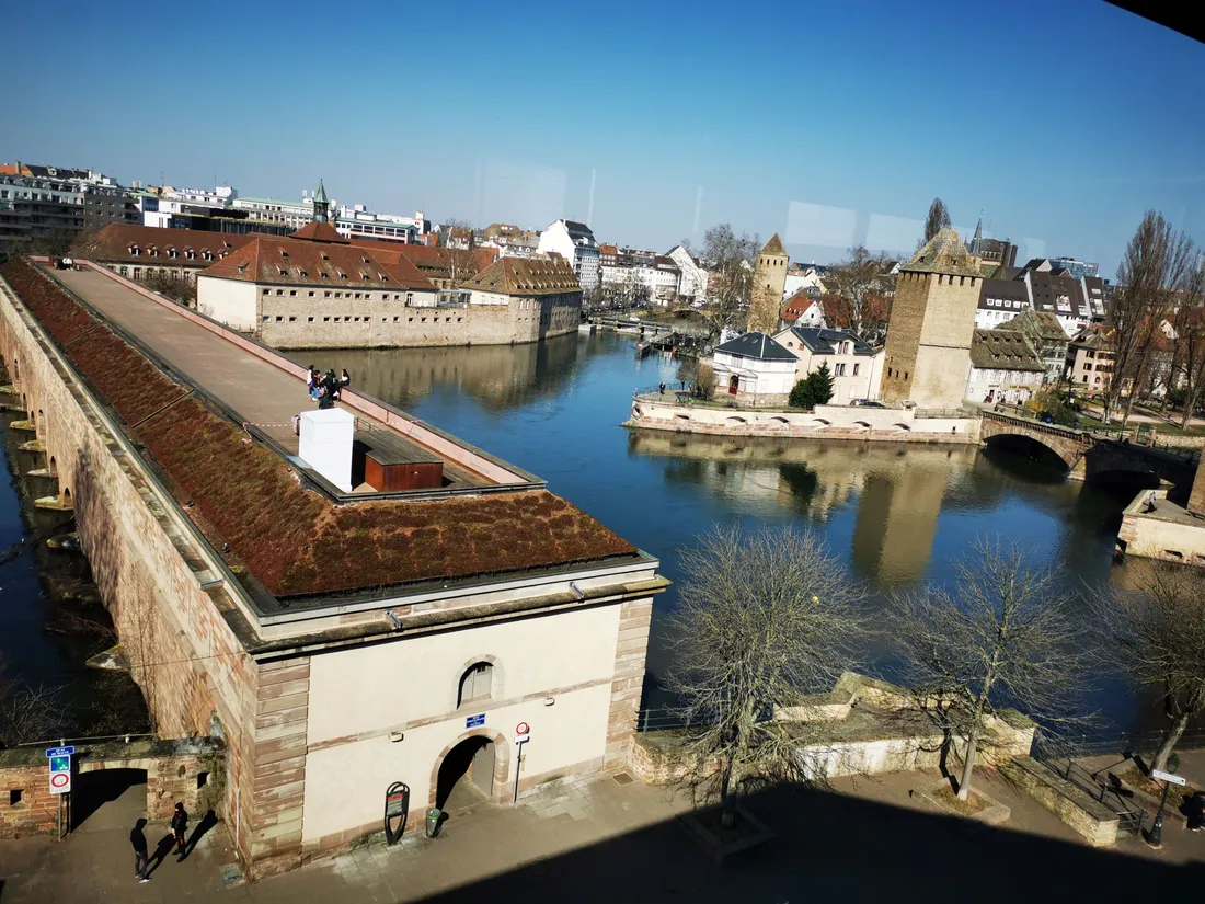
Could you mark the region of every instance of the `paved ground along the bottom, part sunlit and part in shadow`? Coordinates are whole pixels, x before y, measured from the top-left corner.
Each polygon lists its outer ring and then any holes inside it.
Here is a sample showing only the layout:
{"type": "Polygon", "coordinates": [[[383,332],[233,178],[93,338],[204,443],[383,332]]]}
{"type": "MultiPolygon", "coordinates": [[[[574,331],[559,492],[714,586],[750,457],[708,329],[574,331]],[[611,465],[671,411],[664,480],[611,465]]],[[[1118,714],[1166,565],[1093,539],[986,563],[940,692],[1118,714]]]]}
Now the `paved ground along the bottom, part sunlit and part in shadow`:
{"type": "MultiPolygon", "coordinates": [[[[776,789],[746,805],[777,833],[713,863],[675,818],[682,792],[627,775],[577,780],[454,815],[434,840],[378,839],[254,884],[241,881],[225,827],[187,859],[169,857],[152,881],[133,877],[128,823],[137,794],[106,805],[66,841],[0,841],[0,904],[28,902],[247,900],[265,904],[396,904],[435,900],[766,902],[933,898],[975,888],[975,900],[1039,900],[1201,888],[1205,838],[1169,823],[1164,847],[1138,839],[1098,851],[1033,800],[988,774],[976,786],[1012,808],[1006,827],[935,812],[910,796],[936,773],[840,779],[829,791],[776,789]],[[623,782],[623,783],[621,783],[623,782]],[[95,821],[93,823],[93,821],[95,821]],[[93,824],[89,824],[93,823],[93,824]]],[[[147,832],[152,845],[165,832],[147,832]]]]}

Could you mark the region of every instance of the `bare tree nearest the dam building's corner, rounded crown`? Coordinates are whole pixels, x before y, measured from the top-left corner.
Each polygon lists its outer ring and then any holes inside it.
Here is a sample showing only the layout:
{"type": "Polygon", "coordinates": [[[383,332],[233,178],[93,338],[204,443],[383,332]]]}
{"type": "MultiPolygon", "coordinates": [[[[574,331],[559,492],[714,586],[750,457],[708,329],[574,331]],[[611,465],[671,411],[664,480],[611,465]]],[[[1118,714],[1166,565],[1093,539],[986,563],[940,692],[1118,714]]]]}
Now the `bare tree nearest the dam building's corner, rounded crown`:
{"type": "Polygon", "coordinates": [[[690,780],[718,786],[731,826],[743,785],[803,777],[799,726],[766,716],[831,689],[850,667],[862,594],[822,540],[794,528],[717,527],[681,563],[669,687],[699,727],[682,746],[690,780]]]}

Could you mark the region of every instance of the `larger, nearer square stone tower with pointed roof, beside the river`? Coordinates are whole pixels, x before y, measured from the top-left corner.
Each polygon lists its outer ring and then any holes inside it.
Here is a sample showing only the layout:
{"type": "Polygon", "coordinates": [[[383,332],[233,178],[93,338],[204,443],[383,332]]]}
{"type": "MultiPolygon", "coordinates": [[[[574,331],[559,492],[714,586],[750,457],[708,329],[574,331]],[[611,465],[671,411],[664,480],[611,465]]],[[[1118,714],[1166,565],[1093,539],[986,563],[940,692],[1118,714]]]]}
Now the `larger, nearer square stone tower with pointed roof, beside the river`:
{"type": "Polygon", "coordinates": [[[900,268],[887,328],[881,395],[923,409],[963,404],[971,363],[980,259],[942,229],[900,268]]]}

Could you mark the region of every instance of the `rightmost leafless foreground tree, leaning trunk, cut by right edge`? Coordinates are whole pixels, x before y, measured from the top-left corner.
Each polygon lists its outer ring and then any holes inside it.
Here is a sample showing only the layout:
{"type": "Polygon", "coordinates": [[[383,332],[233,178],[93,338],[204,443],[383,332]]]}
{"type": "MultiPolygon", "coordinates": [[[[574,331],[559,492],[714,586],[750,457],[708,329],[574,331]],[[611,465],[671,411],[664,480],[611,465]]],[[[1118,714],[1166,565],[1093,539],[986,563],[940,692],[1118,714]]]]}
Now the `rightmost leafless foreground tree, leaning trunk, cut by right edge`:
{"type": "Polygon", "coordinates": [[[1205,711],[1205,577],[1160,562],[1130,568],[1127,587],[1093,591],[1092,609],[1105,662],[1163,692],[1170,722],[1151,765],[1164,769],[1185,727],[1205,711]]]}

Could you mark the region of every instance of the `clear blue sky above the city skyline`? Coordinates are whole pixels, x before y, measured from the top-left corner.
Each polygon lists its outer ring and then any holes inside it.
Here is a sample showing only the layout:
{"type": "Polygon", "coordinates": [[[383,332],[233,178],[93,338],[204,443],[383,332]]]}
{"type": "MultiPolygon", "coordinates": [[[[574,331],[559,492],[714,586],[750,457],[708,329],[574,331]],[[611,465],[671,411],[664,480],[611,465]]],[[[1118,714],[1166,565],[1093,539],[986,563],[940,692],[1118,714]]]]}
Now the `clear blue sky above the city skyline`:
{"type": "Polygon", "coordinates": [[[0,158],[819,262],[910,250],[935,195],[1106,276],[1147,207],[1205,242],[1187,37],[1087,0],[662,7],[61,2],[0,57],[0,158]]]}

